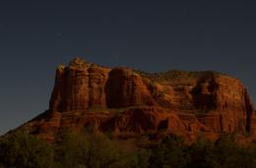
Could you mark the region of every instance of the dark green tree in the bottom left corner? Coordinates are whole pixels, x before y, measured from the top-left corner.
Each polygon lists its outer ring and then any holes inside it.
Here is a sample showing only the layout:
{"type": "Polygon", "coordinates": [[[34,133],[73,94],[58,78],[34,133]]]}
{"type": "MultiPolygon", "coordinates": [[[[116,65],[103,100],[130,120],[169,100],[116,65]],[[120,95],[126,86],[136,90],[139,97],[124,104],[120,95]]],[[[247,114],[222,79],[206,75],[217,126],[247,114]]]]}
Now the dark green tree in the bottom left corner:
{"type": "Polygon", "coordinates": [[[54,151],[48,142],[20,131],[0,140],[0,163],[8,168],[51,168],[54,151]]]}

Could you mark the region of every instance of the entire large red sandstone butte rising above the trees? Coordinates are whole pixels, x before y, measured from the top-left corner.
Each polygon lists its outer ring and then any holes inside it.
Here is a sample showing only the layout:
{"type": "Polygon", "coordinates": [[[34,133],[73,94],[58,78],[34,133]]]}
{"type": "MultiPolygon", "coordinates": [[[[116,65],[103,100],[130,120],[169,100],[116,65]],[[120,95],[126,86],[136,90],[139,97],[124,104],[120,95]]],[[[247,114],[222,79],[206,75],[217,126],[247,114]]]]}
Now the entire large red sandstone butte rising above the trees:
{"type": "Polygon", "coordinates": [[[255,116],[246,88],[225,75],[111,70],[75,58],[57,68],[49,110],[24,127],[46,140],[89,126],[117,139],[174,133],[216,140],[224,132],[255,138],[255,116]]]}

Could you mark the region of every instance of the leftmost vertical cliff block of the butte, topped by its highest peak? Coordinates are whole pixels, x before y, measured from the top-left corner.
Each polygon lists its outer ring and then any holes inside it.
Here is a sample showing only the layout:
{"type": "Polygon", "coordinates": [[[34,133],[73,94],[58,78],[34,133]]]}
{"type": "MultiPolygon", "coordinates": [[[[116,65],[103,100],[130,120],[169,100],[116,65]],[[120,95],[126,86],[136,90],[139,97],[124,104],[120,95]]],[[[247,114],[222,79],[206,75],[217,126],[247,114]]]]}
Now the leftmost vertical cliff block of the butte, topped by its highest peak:
{"type": "Polygon", "coordinates": [[[59,66],[50,110],[65,112],[106,106],[104,85],[109,71],[79,58],[75,58],[68,67],[59,66]]]}

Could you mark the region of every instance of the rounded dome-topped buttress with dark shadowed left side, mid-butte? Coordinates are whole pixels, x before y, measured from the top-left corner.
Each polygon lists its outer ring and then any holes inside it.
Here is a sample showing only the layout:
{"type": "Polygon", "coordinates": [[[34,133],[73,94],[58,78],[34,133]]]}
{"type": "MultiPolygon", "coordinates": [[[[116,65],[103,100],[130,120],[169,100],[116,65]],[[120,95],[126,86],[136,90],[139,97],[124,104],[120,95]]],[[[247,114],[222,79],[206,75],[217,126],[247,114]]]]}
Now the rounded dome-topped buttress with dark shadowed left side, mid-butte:
{"type": "Polygon", "coordinates": [[[113,69],[105,87],[107,106],[110,108],[156,104],[141,77],[131,70],[113,69]]]}

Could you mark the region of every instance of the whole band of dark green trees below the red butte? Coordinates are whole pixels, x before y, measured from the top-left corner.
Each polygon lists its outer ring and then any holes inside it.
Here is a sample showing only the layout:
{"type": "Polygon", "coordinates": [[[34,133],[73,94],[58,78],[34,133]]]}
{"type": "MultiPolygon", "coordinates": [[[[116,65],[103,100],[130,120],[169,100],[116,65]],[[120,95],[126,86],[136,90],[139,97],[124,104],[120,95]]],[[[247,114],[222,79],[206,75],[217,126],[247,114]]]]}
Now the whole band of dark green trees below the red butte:
{"type": "Polygon", "coordinates": [[[22,132],[0,140],[1,168],[254,168],[256,146],[237,145],[231,136],[192,145],[169,135],[154,147],[127,151],[114,140],[64,134],[48,143],[22,132]]]}

